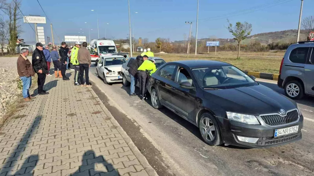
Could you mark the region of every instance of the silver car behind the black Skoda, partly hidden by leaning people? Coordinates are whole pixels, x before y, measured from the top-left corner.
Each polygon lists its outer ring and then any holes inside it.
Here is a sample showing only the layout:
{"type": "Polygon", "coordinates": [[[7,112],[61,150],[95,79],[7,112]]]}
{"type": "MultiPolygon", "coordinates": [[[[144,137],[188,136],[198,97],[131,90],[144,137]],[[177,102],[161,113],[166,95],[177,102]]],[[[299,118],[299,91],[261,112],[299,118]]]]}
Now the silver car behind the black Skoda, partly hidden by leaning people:
{"type": "MultiPolygon", "coordinates": [[[[129,70],[129,66],[132,62],[132,60],[136,59],[136,57],[131,57],[127,60],[126,63],[122,64],[122,68],[121,68],[121,75],[122,75],[122,82],[123,82],[123,85],[124,86],[128,86],[130,85],[130,82],[131,82],[131,78],[130,78],[130,74],[127,70],[129,70]]],[[[165,60],[159,58],[159,57],[149,57],[148,58],[149,60],[150,59],[154,59],[155,60],[155,65],[156,65],[156,68],[160,67],[161,65],[165,64],[165,60]]],[[[137,83],[136,86],[138,86],[139,83],[137,83]]]]}

